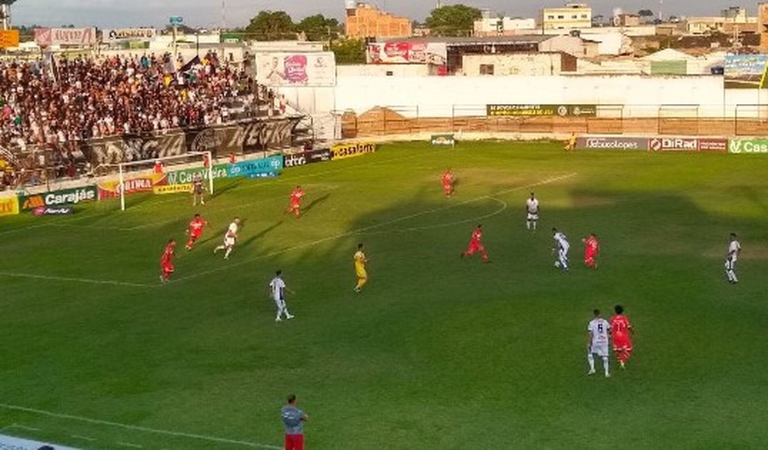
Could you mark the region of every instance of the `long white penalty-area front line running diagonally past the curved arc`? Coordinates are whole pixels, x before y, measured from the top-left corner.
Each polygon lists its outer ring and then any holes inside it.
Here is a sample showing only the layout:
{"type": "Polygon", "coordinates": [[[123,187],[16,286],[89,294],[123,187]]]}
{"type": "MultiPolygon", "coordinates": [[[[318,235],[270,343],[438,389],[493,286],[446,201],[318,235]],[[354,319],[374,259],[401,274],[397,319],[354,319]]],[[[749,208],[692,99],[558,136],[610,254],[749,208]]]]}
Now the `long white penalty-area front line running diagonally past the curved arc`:
{"type": "Polygon", "coordinates": [[[216,272],[220,272],[222,270],[228,270],[228,269],[230,269],[231,267],[234,267],[234,266],[242,266],[243,264],[253,263],[254,261],[257,261],[257,260],[263,260],[265,258],[269,258],[269,257],[276,256],[276,255],[281,255],[283,253],[289,253],[289,252],[292,252],[294,250],[301,250],[301,249],[304,249],[304,248],[307,248],[307,247],[314,247],[314,246],[316,246],[316,245],[318,245],[320,243],[328,242],[329,240],[336,240],[336,239],[339,239],[339,238],[342,238],[342,237],[353,236],[354,234],[363,233],[363,232],[366,232],[368,230],[374,230],[374,229],[379,228],[379,227],[386,227],[388,225],[392,225],[393,223],[402,222],[403,220],[409,220],[409,219],[412,219],[414,217],[424,216],[426,214],[431,214],[431,213],[439,213],[440,211],[443,211],[443,210],[449,210],[451,208],[455,208],[455,207],[458,207],[458,206],[461,206],[461,205],[465,205],[467,203],[474,203],[474,202],[479,201],[479,200],[493,199],[494,196],[498,196],[498,195],[501,195],[501,194],[508,194],[510,192],[515,192],[516,190],[531,189],[531,187],[537,187],[537,186],[541,186],[543,184],[554,183],[556,181],[565,180],[565,179],[574,177],[576,175],[577,174],[575,172],[571,173],[571,174],[559,175],[557,177],[547,178],[545,180],[537,181],[536,183],[527,184],[525,186],[511,187],[509,189],[501,190],[501,191],[499,191],[499,192],[497,192],[495,194],[492,194],[492,195],[483,195],[481,197],[475,197],[475,198],[472,198],[472,199],[469,199],[469,200],[464,200],[462,202],[452,203],[452,204],[447,205],[445,207],[433,208],[431,210],[423,210],[423,211],[420,211],[418,213],[412,213],[412,214],[409,214],[407,216],[399,217],[397,219],[387,220],[386,222],[382,222],[382,223],[376,223],[375,225],[370,225],[369,227],[362,227],[362,228],[358,228],[356,230],[346,231],[345,233],[338,233],[338,234],[334,234],[334,235],[329,236],[329,237],[323,237],[321,239],[313,240],[313,241],[310,241],[310,242],[307,242],[307,243],[300,243],[300,244],[295,245],[293,247],[287,247],[287,248],[285,248],[283,250],[275,250],[275,251],[270,252],[270,253],[265,253],[263,255],[256,256],[255,258],[250,258],[249,260],[243,260],[243,261],[240,261],[238,263],[231,263],[231,264],[227,264],[226,266],[217,267],[216,269],[204,270],[203,272],[193,273],[193,274],[187,275],[187,276],[182,276],[182,277],[177,278],[176,280],[172,281],[171,283],[181,283],[181,282],[186,281],[186,280],[192,280],[192,279],[197,278],[199,276],[209,275],[210,273],[216,273],[216,272]]]}

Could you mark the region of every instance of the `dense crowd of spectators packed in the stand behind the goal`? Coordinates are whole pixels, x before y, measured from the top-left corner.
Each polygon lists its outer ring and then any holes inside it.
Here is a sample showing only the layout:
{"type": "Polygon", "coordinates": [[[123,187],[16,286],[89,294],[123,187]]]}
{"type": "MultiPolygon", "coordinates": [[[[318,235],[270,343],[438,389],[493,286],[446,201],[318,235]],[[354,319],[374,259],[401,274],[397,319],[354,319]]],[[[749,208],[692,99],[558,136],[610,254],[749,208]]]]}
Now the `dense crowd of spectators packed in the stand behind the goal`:
{"type": "MultiPolygon", "coordinates": [[[[223,124],[233,111],[255,114],[259,104],[269,104],[270,115],[283,110],[272,106],[271,90],[214,52],[181,62],[170,55],[0,61],[0,146],[45,149],[50,176],[67,177],[81,141],[223,124]]],[[[30,157],[28,165],[38,166],[30,157]]],[[[0,185],[18,179],[0,175],[0,185]]]]}

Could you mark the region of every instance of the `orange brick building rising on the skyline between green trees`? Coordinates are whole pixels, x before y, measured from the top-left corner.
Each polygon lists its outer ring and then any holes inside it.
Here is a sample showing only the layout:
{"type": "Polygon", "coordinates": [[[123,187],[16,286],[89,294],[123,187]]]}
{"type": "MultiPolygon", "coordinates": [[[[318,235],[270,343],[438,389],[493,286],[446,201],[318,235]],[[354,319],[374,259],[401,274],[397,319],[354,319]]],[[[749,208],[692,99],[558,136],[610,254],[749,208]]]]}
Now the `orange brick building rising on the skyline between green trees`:
{"type": "Polygon", "coordinates": [[[366,3],[347,2],[347,38],[407,38],[413,35],[409,18],[391,15],[366,3]]]}

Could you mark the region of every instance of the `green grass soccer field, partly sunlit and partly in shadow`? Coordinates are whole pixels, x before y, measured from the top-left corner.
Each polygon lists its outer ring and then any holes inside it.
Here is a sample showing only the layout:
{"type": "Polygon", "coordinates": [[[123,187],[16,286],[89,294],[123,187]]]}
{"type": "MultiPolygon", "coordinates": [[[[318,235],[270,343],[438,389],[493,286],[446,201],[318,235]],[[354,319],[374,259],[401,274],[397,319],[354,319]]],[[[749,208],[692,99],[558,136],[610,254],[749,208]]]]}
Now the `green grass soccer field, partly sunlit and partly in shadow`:
{"type": "Polygon", "coordinates": [[[0,219],[0,434],[280,448],[295,393],[307,448],[764,448],[768,160],[561,149],[387,144],[222,181],[197,209],[186,195],[134,196],[124,212],[107,201],[0,219]],[[296,184],[299,220],[283,215],[296,184]],[[196,212],[210,226],[187,252],[196,212]],[[212,250],[234,216],[224,261],[212,250]],[[491,264],[459,258],[478,223],[491,264]],[[571,240],[570,273],[554,267],[552,227],[571,240]],[[723,273],[731,231],[737,286],[723,273]],[[581,263],[590,232],[597,271],[581,263]],[[361,242],[370,280],[356,294],[361,242]],[[267,290],[277,269],[296,291],[283,323],[267,290]],[[617,303],[634,355],[588,377],[591,311],[617,303]]]}

